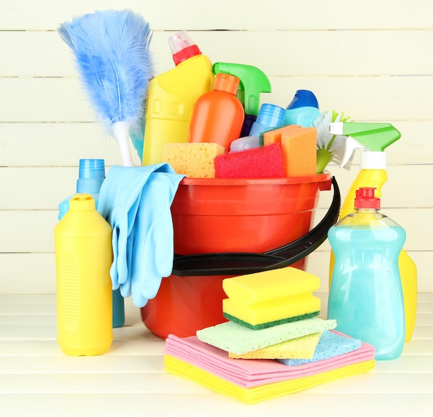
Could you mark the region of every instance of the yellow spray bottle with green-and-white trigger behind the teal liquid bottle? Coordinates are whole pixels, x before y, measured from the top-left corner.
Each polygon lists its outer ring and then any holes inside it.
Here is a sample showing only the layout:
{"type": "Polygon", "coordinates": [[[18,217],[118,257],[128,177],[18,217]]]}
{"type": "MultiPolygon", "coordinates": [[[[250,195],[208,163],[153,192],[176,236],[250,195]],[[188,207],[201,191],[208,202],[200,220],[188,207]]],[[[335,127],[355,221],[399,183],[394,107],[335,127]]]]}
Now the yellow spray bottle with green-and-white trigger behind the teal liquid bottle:
{"type": "MultiPolygon", "coordinates": [[[[333,134],[348,136],[341,166],[344,167],[355,149],[362,149],[360,172],[353,181],[340,211],[340,219],[355,212],[353,201],[361,187],[376,188],[375,196],[382,196],[382,186],[387,181],[385,148],[400,138],[400,132],[389,123],[336,122],[329,126],[333,134]]],[[[329,262],[331,286],[334,255],[329,262]]],[[[412,339],[416,319],[417,271],[412,258],[403,249],[398,257],[401,286],[405,303],[405,342],[412,339]]]]}

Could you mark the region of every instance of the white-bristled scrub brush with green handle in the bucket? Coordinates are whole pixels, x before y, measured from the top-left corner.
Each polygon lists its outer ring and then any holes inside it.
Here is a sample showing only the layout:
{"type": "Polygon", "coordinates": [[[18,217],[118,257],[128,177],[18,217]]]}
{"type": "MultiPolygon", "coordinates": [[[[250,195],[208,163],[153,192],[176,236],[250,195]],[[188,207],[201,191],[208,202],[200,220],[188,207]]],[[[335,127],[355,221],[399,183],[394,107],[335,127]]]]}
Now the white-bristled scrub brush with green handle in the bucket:
{"type": "MultiPolygon", "coordinates": [[[[325,111],[314,122],[313,127],[317,129],[317,167],[316,174],[320,174],[331,161],[341,165],[344,156],[344,144],[347,136],[333,135],[329,133],[329,124],[333,122],[351,122],[349,116],[341,111],[325,111]]],[[[350,169],[352,157],[345,169],[350,169]]]]}

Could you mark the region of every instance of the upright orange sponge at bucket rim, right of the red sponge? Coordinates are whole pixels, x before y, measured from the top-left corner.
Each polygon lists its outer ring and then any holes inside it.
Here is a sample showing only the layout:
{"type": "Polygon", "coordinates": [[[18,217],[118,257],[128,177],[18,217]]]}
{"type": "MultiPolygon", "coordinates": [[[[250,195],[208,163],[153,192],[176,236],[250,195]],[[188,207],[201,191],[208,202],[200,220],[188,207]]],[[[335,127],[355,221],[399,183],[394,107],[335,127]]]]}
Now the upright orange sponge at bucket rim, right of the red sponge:
{"type": "Polygon", "coordinates": [[[317,165],[317,129],[302,127],[283,132],[281,138],[286,176],[315,175],[317,165]]]}

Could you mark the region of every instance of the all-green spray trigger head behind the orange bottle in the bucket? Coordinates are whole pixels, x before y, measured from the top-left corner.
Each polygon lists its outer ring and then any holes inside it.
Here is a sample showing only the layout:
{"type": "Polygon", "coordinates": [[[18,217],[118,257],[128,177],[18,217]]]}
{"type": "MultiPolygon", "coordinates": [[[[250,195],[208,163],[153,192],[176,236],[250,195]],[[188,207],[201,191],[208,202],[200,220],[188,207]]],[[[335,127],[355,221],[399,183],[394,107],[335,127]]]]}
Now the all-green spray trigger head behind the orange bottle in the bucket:
{"type": "Polygon", "coordinates": [[[270,81],[266,74],[256,66],[246,64],[229,64],[215,62],[212,67],[215,74],[225,73],[236,75],[239,80],[237,98],[249,115],[258,115],[260,108],[260,93],[270,93],[270,81]]]}

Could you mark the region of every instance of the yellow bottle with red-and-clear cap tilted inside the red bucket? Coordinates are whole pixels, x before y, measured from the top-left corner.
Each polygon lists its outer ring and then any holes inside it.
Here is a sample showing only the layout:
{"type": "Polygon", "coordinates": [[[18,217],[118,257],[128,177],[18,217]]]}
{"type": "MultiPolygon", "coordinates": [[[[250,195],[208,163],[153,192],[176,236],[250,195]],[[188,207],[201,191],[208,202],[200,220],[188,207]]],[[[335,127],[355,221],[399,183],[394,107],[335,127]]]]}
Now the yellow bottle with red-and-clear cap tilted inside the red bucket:
{"type": "Polygon", "coordinates": [[[169,46],[176,66],[149,82],[142,165],[163,162],[165,143],[187,142],[194,104],[212,89],[212,63],[185,30],[169,46]]]}

